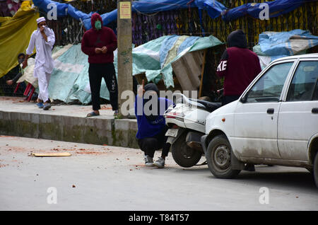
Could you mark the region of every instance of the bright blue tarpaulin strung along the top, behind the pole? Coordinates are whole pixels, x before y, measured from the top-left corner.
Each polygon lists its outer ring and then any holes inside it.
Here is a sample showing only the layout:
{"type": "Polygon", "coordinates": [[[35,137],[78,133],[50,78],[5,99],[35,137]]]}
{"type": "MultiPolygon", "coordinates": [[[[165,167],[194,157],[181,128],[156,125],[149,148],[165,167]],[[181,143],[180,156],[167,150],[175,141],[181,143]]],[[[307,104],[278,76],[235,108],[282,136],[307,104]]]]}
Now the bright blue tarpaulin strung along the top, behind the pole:
{"type": "MultiPolygon", "coordinates": [[[[308,1],[317,1],[317,0],[276,0],[265,2],[269,7],[269,18],[276,16],[281,16],[284,13],[289,13],[295,8],[298,8],[302,4],[308,1]]],[[[71,4],[62,4],[57,1],[51,0],[33,0],[35,6],[41,8],[43,11],[48,12],[52,9],[52,5],[57,5],[57,16],[72,16],[78,21],[83,21],[84,27],[86,30],[91,28],[90,16],[89,14],[83,13],[82,11],[77,10],[71,4]]],[[[263,3],[264,4],[264,3],[263,3]]],[[[222,15],[224,21],[232,21],[237,18],[240,18],[245,15],[252,16],[254,18],[259,18],[259,14],[264,11],[264,5],[256,3],[248,3],[236,8],[229,9],[226,8],[223,4],[216,0],[140,0],[140,1],[131,1],[131,11],[140,12],[140,13],[156,13],[158,11],[172,11],[182,8],[198,8],[200,22],[202,11],[206,11],[208,16],[211,18],[218,18],[222,15]]],[[[109,13],[104,13],[102,16],[102,22],[104,25],[111,23],[112,21],[117,20],[117,9],[109,13]]]]}

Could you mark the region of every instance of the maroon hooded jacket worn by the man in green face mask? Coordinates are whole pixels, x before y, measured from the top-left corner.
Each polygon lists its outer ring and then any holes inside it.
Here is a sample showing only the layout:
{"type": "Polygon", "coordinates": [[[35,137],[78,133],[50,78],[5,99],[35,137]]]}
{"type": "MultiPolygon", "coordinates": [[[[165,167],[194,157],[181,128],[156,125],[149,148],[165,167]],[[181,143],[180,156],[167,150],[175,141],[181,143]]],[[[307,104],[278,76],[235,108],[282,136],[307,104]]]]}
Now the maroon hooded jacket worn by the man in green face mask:
{"type": "Polygon", "coordinates": [[[84,33],[82,38],[81,49],[88,54],[89,63],[109,63],[114,62],[114,50],[117,49],[117,37],[112,29],[102,26],[102,29],[96,30],[95,21],[102,23],[102,18],[98,13],[93,13],[90,23],[92,28],[84,33]],[[103,46],[107,47],[107,52],[96,53],[95,48],[103,46]]]}

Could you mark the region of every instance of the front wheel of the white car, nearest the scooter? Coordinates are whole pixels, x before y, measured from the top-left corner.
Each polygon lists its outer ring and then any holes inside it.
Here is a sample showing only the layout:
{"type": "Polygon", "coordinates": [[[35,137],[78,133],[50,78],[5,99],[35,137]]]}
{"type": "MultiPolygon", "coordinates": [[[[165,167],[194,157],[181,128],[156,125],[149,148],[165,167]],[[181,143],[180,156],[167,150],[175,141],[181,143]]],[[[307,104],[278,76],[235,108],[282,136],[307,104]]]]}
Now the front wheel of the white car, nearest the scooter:
{"type": "Polygon", "coordinates": [[[235,178],[240,170],[233,170],[231,167],[232,147],[225,135],[214,137],[208,144],[206,161],[208,168],[216,178],[235,178]]]}

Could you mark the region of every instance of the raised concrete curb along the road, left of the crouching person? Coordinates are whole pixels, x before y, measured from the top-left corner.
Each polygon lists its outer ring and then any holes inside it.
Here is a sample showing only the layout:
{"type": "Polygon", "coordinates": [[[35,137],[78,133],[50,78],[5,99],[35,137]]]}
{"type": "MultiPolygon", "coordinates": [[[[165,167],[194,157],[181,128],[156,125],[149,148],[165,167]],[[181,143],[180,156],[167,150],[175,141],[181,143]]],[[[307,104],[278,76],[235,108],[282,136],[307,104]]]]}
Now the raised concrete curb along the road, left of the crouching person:
{"type": "Polygon", "coordinates": [[[0,134],[139,148],[136,120],[0,111],[0,134]]]}

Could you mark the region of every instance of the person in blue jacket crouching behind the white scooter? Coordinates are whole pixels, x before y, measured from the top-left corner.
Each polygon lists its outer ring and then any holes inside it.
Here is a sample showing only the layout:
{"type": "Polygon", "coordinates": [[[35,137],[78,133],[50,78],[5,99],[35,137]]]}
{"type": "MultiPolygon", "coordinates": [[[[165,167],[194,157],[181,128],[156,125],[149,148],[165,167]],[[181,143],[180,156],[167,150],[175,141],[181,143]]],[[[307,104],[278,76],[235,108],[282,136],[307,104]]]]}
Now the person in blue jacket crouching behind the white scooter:
{"type": "Polygon", "coordinates": [[[148,83],[139,88],[135,101],[138,132],[136,138],[141,151],[144,152],[146,166],[165,166],[171,144],[166,143],[167,126],[165,125],[165,110],[172,104],[167,98],[159,98],[159,90],[155,83],[148,83]],[[153,163],[155,151],[163,149],[161,157],[153,163]]]}

